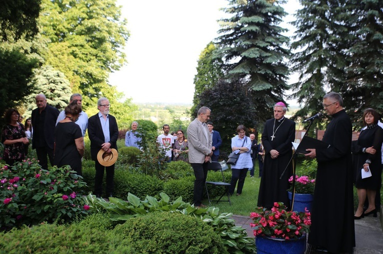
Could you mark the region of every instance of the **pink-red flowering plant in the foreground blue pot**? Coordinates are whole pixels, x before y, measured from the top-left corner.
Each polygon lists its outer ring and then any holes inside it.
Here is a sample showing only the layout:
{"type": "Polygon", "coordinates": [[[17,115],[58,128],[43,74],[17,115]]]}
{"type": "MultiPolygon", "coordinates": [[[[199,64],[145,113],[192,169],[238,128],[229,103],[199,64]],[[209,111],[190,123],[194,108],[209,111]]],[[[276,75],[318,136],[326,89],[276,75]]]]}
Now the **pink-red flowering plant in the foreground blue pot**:
{"type": "Polygon", "coordinates": [[[254,223],[254,236],[265,236],[280,239],[298,239],[309,232],[311,215],[305,213],[286,211],[286,206],[281,202],[275,202],[273,208],[268,210],[258,207],[250,214],[254,223]]]}

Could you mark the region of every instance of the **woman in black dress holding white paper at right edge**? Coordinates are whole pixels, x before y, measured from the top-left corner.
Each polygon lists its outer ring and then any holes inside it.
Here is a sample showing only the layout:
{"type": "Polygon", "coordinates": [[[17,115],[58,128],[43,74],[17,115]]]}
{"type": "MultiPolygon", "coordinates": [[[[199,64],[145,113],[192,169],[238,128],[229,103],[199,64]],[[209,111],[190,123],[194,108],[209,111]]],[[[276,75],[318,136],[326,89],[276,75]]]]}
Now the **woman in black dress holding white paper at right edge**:
{"type": "Polygon", "coordinates": [[[363,123],[366,125],[360,132],[357,140],[357,175],[355,187],[358,194],[358,208],[354,220],[373,214],[376,217],[375,195],[381,182],[381,144],[383,142],[383,129],[377,125],[379,114],[372,108],[363,112],[363,123]],[[369,174],[371,173],[371,174],[369,174]],[[370,175],[370,176],[368,176],[370,175]],[[368,199],[368,208],[363,211],[365,199],[368,199]]]}

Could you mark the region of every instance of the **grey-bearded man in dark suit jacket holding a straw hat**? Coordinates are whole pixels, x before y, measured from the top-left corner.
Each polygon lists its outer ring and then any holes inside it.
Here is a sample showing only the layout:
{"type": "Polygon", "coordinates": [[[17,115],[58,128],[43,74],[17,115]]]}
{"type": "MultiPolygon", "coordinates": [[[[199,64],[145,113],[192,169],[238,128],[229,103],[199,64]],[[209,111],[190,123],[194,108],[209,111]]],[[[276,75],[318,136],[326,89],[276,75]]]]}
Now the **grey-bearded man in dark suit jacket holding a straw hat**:
{"type": "Polygon", "coordinates": [[[118,126],[116,118],[109,114],[110,103],[105,97],[97,101],[99,112],[91,116],[88,121],[88,135],[91,141],[92,160],[95,161],[95,192],[96,197],[102,195],[102,182],[104,178],[104,170],[106,169],[106,191],[107,197],[113,196],[113,178],[114,164],[104,167],[97,160],[97,154],[100,149],[106,153],[111,153],[111,149],[117,150],[118,126]]]}

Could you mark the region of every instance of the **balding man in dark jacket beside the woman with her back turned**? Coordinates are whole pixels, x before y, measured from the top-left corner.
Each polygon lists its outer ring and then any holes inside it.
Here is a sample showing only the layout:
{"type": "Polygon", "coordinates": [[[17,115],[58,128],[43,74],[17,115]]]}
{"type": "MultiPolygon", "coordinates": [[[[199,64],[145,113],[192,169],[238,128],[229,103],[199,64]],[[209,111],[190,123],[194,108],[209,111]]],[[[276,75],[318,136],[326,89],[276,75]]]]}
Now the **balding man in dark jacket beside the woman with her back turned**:
{"type": "Polygon", "coordinates": [[[53,166],[56,119],[60,111],[47,104],[44,94],[36,95],[37,108],[32,111],[32,148],[36,148],[39,164],[48,169],[48,159],[53,166]]]}

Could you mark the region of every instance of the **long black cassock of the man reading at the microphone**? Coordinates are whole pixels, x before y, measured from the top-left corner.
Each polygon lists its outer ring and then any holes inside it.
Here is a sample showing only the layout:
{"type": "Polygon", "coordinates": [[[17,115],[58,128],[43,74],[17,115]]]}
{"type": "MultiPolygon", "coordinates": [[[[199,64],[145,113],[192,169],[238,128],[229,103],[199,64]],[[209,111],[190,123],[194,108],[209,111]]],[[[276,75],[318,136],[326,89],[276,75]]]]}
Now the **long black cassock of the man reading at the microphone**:
{"type": "Polygon", "coordinates": [[[318,171],[308,243],[330,253],[352,253],[355,246],[351,163],[351,121],[344,110],[332,115],[316,149],[318,171]]]}

